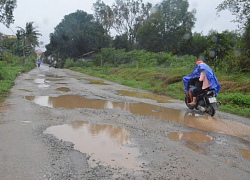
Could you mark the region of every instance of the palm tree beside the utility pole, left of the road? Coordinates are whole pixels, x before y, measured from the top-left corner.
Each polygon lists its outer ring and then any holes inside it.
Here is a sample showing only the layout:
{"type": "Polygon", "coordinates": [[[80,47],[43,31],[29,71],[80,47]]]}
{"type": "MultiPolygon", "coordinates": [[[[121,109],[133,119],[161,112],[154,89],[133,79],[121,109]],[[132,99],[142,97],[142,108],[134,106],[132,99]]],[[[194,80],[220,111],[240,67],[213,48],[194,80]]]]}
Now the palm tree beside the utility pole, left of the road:
{"type": "Polygon", "coordinates": [[[42,34],[36,30],[36,27],[33,26],[33,23],[34,22],[26,23],[25,29],[18,26],[20,30],[17,31],[17,39],[18,41],[21,40],[23,43],[24,56],[27,53],[31,54],[34,52],[35,47],[39,47],[38,36],[41,36],[42,34]]]}

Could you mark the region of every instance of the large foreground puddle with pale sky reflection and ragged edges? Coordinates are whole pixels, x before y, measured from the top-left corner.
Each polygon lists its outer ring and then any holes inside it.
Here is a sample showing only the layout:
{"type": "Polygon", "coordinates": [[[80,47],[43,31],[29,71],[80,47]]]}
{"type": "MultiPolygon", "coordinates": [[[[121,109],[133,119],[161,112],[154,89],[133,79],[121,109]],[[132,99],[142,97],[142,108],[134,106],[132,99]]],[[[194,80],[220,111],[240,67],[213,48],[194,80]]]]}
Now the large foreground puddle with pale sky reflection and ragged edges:
{"type": "Polygon", "coordinates": [[[127,169],[140,169],[145,162],[138,157],[139,149],[131,142],[130,132],[111,125],[73,121],[46,129],[58,139],[74,144],[74,149],[90,156],[91,166],[97,164],[127,169]]]}

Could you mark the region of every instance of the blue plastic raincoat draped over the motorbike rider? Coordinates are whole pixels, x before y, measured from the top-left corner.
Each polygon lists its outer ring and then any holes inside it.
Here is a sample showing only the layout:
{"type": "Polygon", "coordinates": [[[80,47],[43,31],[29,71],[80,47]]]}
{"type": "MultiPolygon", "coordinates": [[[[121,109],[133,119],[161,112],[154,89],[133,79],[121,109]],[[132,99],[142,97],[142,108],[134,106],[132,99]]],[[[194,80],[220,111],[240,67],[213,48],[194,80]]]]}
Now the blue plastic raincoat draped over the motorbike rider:
{"type": "Polygon", "coordinates": [[[202,70],[205,71],[207,79],[210,83],[209,89],[214,89],[215,96],[217,96],[219,91],[220,91],[221,86],[220,86],[213,70],[206,63],[201,63],[201,64],[196,65],[196,67],[194,68],[194,70],[191,74],[183,77],[183,84],[185,86],[185,92],[188,92],[189,80],[193,79],[193,78],[199,78],[202,70]]]}

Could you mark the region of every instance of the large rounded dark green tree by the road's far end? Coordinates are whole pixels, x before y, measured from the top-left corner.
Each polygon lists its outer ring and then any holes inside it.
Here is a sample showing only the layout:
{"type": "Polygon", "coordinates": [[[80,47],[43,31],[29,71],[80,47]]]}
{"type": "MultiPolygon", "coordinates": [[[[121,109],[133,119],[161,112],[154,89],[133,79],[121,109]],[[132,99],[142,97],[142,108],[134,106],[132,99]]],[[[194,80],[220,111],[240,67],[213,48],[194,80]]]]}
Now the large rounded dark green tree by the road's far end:
{"type": "MultiPolygon", "coordinates": [[[[80,58],[91,51],[109,46],[109,36],[93,15],[78,10],[64,19],[50,34],[47,51],[61,58],[80,58]]],[[[47,53],[46,53],[47,54],[47,53]]]]}

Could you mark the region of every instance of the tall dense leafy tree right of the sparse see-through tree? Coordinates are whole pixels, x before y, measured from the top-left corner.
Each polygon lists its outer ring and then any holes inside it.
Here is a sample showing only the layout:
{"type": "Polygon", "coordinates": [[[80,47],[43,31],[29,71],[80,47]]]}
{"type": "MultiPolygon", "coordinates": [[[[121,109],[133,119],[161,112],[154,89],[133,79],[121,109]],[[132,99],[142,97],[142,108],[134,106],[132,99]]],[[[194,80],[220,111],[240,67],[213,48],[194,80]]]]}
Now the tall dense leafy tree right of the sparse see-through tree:
{"type": "Polygon", "coordinates": [[[156,12],[138,30],[139,46],[154,52],[180,53],[185,36],[191,36],[195,10],[188,11],[187,0],[163,0],[156,12]]]}

